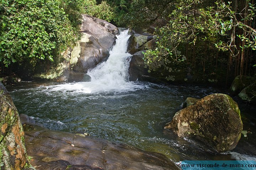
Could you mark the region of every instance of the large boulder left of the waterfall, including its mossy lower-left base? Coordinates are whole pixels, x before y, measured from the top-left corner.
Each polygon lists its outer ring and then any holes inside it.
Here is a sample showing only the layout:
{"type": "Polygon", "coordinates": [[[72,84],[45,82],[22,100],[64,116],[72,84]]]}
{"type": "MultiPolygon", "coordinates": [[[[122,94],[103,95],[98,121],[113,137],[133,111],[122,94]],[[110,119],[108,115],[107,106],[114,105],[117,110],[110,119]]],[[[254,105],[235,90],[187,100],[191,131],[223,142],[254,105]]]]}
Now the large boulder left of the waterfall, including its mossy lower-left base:
{"type": "Polygon", "coordinates": [[[84,81],[87,70],[109,56],[109,51],[116,42],[118,28],[107,21],[82,15],[80,27],[81,39],[73,48],[62,53],[58,64],[49,69],[43,64],[36,67],[35,78],[50,79],[54,81],[84,81]]]}

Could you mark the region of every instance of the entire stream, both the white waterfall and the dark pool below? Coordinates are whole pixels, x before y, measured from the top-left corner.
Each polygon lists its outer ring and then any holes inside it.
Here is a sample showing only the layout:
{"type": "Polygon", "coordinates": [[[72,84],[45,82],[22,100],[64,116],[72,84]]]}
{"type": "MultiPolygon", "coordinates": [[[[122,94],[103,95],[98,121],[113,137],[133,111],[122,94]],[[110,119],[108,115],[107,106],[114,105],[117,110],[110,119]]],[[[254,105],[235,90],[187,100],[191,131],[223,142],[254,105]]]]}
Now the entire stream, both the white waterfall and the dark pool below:
{"type": "MultiPolygon", "coordinates": [[[[177,137],[163,126],[187,97],[202,98],[223,89],[196,85],[162,85],[129,81],[129,35],[121,32],[107,61],[87,73],[88,82],[20,82],[7,86],[18,112],[44,127],[121,142],[182,160],[256,160],[256,108],[239,103],[244,129],[231,152],[216,154],[199,143],[177,137]]],[[[236,98],[234,98],[236,100],[236,98]]]]}

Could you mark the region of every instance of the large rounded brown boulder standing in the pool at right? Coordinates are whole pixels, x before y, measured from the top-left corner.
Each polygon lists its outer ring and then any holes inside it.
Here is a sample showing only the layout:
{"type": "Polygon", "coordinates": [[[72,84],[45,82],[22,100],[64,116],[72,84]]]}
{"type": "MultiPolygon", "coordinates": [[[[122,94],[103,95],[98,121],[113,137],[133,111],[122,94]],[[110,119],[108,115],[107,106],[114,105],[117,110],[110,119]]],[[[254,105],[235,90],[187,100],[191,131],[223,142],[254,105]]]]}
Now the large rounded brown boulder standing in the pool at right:
{"type": "Polygon", "coordinates": [[[164,128],[225,152],[240,140],[242,121],[238,104],[230,96],[212,94],[178,111],[164,128]]]}

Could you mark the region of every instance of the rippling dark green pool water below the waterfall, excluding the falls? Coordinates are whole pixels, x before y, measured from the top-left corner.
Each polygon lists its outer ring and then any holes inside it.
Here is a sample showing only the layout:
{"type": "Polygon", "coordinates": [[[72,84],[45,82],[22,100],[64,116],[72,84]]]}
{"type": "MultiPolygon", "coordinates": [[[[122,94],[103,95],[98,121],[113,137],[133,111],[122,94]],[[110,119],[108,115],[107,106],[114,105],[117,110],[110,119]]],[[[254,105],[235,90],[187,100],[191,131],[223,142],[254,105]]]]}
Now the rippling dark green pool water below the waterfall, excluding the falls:
{"type": "MultiPolygon", "coordinates": [[[[132,90],[86,93],[78,87],[69,89],[74,83],[33,84],[25,88],[26,84],[10,91],[19,113],[33,116],[49,129],[86,132],[94,137],[164,153],[175,162],[238,159],[234,153],[211,153],[198,143],[163,129],[186,97],[202,98],[219,92],[218,89],[134,82],[132,90]]],[[[85,84],[80,85],[85,87],[85,84]]],[[[253,121],[248,125],[251,129],[255,126],[253,121]]]]}

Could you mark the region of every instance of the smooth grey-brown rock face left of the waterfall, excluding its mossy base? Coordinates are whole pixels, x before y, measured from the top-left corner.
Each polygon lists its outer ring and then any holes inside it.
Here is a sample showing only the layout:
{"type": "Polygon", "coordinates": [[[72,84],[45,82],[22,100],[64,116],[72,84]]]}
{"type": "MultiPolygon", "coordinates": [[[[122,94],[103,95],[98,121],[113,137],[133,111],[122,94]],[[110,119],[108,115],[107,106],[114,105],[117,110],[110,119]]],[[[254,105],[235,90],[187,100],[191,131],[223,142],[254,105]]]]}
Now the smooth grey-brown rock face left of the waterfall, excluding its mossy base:
{"type": "Polygon", "coordinates": [[[112,24],[88,15],[82,15],[81,40],[71,53],[70,64],[75,73],[87,73],[104,58],[116,42],[118,29],[112,24]]]}

